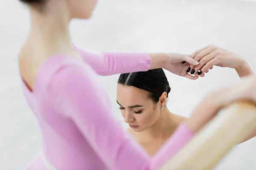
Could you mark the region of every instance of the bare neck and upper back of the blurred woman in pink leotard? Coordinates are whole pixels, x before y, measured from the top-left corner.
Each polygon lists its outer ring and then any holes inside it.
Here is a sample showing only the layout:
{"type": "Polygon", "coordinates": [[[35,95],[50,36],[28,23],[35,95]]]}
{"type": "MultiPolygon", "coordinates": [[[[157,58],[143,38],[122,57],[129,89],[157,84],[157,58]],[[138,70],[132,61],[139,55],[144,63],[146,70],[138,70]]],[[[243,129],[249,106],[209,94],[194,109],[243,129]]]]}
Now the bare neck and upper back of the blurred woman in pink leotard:
{"type": "Polygon", "coordinates": [[[46,8],[41,12],[30,7],[29,35],[19,54],[20,75],[31,91],[37,70],[47,58],[55,54],[77,55],[70,41],[68,26],[71,17],[65,1],[51,1],[46,8]]]}

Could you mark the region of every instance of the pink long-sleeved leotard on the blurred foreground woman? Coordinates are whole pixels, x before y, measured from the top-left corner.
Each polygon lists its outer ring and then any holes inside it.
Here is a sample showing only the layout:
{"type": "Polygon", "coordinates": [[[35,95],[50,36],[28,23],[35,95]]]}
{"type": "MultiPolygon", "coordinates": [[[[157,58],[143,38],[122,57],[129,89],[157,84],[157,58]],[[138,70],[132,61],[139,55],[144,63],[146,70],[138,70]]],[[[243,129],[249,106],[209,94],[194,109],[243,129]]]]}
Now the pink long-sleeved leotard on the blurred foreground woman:
{"type": "Polygon", "coordinates": [[[157,170],[192,138],[181,124],[154,157],[148,156],[113,118],[97,74],[147,71],[149,54],[76,50],[84,62],[55,55],[38,69],[33,91],[23,82],[41,128],[44,157],[56,169],[157,170]]]}

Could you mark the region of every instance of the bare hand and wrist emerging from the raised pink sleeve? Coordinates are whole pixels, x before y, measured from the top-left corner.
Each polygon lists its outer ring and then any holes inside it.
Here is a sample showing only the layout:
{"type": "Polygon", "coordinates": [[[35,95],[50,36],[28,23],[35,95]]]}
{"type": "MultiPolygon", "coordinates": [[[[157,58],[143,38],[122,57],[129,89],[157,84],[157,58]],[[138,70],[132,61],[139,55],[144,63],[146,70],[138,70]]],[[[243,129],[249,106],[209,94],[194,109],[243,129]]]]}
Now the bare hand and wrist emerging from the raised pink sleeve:
{"type": "Polygon", "coordinates": [[[164,68],[173,74],[177,74],[188,79],[198,79],[198,76],[188,74],[189,65],[196,66],[199,62],[192,59],[187,54],[178,53],[158,53],[150,54],[151,56],[151,69],[164,68]],[[160,63],[160,64],[156,64],[160,63]],[[161,65],[159,67],[159,65],[161,65]]]}

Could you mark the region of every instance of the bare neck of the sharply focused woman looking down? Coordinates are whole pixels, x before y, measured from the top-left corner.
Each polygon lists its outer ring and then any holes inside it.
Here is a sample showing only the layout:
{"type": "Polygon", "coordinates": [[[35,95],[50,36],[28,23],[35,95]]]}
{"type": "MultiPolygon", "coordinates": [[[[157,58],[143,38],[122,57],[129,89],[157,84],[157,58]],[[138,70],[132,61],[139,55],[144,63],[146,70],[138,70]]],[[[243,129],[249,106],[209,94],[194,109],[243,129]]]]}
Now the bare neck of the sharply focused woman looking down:
{"type": "Polygon", "coordinates": [[[140,132],[143,139],[166,140],[175,131],[181,121],[185,119],[182,116],[171,113],[168,108],[161,111],[160,116],[155,124],[146,130],[140,132]]]}

